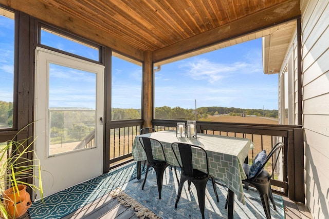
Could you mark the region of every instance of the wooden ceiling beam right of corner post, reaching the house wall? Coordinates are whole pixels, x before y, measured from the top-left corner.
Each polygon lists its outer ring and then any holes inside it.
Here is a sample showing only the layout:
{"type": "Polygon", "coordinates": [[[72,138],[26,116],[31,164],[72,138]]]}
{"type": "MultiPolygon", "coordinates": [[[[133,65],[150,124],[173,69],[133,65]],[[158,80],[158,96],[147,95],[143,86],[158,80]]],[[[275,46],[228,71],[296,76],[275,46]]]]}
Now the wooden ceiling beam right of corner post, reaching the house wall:
{"type": "Polygon", "coordinates": [[[192,52],[300,17],[300,0],[290,0],[153,52],[153,62],[192,52]]]}

